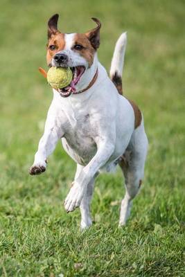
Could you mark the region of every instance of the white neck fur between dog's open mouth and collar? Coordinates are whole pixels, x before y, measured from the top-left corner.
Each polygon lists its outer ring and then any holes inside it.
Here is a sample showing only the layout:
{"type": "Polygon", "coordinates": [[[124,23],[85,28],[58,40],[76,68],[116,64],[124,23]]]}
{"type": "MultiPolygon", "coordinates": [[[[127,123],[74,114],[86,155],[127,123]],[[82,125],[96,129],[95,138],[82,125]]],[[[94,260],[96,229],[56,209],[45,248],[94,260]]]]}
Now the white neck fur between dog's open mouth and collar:
{"type": "Polygon", "coordinates": [[[76,91],[82,91],[86,89],[90,84],[91,80],[93,80],[94,75],[96,74],[98,68],[98,57],[97,54],[94,55],[93,64],[87,71],[82,75],[80,82],[76,85],[76,91]]]}

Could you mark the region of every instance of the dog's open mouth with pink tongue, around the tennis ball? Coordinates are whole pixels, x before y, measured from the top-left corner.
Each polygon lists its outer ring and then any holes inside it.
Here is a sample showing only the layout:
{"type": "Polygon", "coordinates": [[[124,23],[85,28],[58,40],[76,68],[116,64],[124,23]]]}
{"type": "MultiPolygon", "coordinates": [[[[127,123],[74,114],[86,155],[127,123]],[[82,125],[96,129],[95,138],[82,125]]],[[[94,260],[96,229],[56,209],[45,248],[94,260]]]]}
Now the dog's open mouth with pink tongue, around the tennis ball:
{"type": "Polygon", "coordinates": [[[63,87],[63,89],[58,89],[60,96],[62,97],[68,97],[71,95],[71,93],[75,94],[76,92],[76,84],[80,81],[83,73],[85,72],[85,66],[74,66],[70,67],[72,73],[73,73],[73,79],[71,83],[67,87],[63,87]]]}

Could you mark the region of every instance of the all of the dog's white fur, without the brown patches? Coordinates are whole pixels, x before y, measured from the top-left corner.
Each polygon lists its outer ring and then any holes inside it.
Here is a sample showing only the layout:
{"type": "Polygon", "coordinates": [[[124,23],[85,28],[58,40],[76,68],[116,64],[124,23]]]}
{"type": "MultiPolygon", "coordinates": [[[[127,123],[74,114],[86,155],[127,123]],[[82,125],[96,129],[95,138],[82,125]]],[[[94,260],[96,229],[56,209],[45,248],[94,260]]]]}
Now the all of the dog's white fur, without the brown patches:
{"type": "MultiPolygon", "coordinates": [[[[116,166],[125,153],[128,167],[125,168],[125,197],[121,202],[119,224],[125,224],[130,213],[132,199],[139,191],[143,179],[148,139],[141,125],[134,129],[134,111],[130,102],[118,91],[109,79],[97,55],[88,68],[87,61],[71,50],[75,34],[65,35],[62,51],[69,57],[68,66],[84,65],[85,73],[77,85],[77,91],[85,89],[98,67],[98,78],[84,93],[62,98],[53,89],[53,101],[46,118],[44,135],[39,141],[33,167],[46,168],[46,159],[55,149],[59,139],[69,156],[76,161],[77,170],[69,194],[64,202],[67,212],[80,206],[81,228],[91,225],[89,204],[94,189],[94,179],[100,170],[109,171],[116,166]]],[[[118,39],[111,66],[111,75],[123,69],[126,34],[118,39]]],[[[52,65],[55,65],[52,60],[52,65]]],[[[32,167],[32,168],[33,168],[32,167]]]]}

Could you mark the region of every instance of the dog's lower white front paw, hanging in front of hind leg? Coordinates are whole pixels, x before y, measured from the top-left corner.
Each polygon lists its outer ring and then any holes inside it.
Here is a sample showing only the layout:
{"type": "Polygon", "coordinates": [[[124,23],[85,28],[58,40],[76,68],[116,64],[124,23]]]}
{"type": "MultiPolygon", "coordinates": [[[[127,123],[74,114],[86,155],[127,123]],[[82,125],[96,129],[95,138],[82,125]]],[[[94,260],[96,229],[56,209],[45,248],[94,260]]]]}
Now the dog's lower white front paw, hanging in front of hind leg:
{"type": "Polygon", "coordinates": [[[74,211],[80,206],[83,195],[84,189],[78,184],[74,183],[64,202],[64,208],[66,209],[67,213],[74,211]]]}

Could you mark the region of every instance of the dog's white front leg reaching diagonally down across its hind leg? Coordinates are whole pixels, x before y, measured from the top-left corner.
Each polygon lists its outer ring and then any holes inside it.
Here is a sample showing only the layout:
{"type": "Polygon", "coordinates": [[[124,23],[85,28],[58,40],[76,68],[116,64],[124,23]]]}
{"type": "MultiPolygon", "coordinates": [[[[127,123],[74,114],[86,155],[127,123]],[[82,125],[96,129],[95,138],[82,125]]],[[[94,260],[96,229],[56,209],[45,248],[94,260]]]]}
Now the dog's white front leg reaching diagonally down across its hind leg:
{"type": "Polygon", "coordinates": [[[105,165],[114,152],[114,142],[100,141],[98,150],[93,159],[82,169],[78,178],[73,182],[73,186],[64,202],[64,207],[69,213],[80,206],[82,197],[85,195],[89,181],[93,179],[98,170],[105,165]]]}

